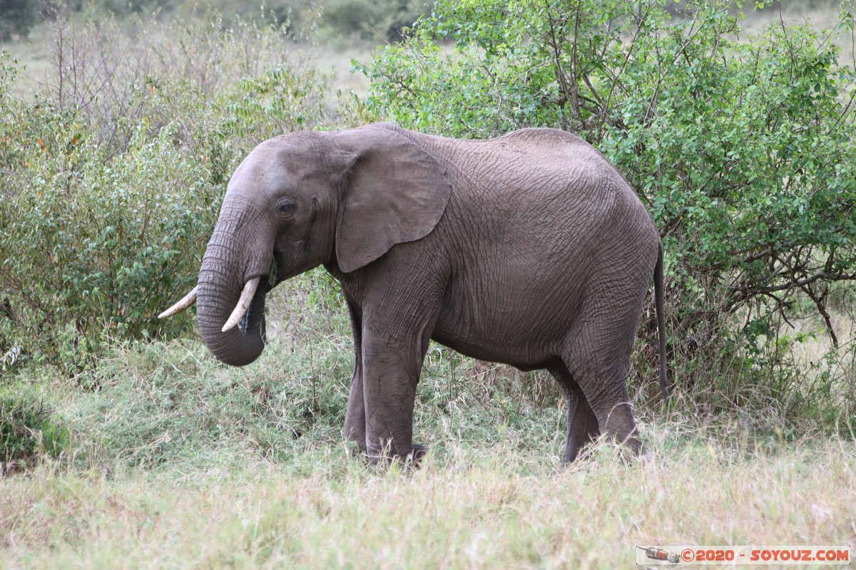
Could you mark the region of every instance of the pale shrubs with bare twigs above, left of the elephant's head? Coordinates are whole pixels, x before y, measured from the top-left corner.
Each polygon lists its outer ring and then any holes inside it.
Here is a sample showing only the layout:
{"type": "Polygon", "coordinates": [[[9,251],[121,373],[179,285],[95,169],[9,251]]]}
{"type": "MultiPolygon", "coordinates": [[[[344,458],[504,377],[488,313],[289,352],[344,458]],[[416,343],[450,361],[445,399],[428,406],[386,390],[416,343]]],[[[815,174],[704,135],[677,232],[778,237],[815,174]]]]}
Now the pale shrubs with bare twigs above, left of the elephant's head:
{"type": "Polygon", "coordinates": [[[282,28],[57,21],[33,101],[0,65],[0,353],[74,374],[110,339],[175,334],[229,176],[265,138],[314,128],[325,79],[282,28]]]}

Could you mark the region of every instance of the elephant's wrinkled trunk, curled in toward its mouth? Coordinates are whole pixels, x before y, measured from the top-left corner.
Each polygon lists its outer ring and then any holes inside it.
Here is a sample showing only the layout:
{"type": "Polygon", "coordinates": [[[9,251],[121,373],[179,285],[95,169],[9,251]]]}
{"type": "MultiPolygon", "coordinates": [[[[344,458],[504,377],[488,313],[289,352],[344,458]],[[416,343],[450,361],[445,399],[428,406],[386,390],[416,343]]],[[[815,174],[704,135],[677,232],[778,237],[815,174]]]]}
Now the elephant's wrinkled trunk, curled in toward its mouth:
{"type": "Polygon", "coordinates": [[[196,297],[202,340],[217,359],[232,366],[249,364],[264,350],[265,294],[270,290],[265,279],[270,269],[270,254],[264,259],[262,252],[272,249],[247,247],[259,243],[258,228],[241,226],[224,220],[221,214],[202,259],[196,297]],[[238,247],[239,244],[244,247],[238,247]],[[254,292],[249,291],[253,281],[258,283],[254,292]],[[246,311],[239,305],[246,307],[246,311]],[[236,313],[240,314],[233,317],[236,313]],[[238,320],[237,326],[227,326],[234,325],[230,318],[238,320]]]}

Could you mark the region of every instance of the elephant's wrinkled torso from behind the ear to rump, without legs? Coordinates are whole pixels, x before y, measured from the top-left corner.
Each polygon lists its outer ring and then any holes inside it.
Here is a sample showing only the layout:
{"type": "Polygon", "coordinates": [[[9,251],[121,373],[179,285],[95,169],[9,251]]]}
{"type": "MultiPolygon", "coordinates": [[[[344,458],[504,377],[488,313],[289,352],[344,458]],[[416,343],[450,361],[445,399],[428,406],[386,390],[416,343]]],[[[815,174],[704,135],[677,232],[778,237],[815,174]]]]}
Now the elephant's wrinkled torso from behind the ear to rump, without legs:
{"type": "Polygon", "coordinates": [[[586,299],[645,291],[657,230],[591,145],[552,129],[431,144],[453,186],[433,235],[449,251],[450,270],[438,341],[470,356],[541,367],[586,299]]]}

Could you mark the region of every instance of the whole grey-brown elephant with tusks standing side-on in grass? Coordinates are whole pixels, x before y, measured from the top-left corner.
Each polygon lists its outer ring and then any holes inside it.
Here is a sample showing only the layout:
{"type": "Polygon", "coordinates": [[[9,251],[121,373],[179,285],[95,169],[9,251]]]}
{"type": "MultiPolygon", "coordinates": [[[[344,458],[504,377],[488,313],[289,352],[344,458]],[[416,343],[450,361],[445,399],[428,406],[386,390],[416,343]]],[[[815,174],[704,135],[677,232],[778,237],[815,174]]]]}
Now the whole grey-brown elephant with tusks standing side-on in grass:
{"type": "Polygon", "coordinates": [[[413,400],[431,339],[547,369],[568,399],[563,459],[606,433],[639,453],[625,380],[651,279],[665,393],[663,246],[615,167],[533,128],[455,140],[376,124],[295,132],[250,153],[187,297],[221,361],[265,347],[265,293],[324,265],[354,332],[345,438],[418,461],[413,400]]]}

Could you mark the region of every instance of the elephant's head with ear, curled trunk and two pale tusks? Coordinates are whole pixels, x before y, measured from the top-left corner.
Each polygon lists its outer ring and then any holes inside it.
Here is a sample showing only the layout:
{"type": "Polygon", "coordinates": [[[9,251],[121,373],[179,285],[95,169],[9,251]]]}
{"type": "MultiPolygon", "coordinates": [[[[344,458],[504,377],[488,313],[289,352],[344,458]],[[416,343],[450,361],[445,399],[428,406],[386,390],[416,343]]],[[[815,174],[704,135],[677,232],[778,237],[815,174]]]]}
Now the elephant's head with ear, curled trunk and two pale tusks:
{"type": "Polygon", "coordinates": [[[272,138],[235,170],[198,285],[161,317],[195,301],[211,352],[248,364],[265,347],[272,286],[321,264],[350,273],[425,237],[450,190],[440,164],[395,126],[272,138]]]}

